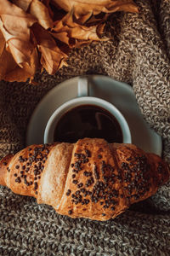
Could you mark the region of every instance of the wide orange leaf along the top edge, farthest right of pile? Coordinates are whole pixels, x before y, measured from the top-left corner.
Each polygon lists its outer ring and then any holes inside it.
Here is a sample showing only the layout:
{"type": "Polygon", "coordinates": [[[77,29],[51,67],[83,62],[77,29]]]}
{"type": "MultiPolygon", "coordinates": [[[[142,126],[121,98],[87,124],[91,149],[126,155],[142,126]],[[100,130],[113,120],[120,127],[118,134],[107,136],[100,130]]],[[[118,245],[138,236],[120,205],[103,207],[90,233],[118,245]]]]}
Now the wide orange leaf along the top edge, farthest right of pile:
{"type": "Polygon", "coordinates": [[[113,13],[116,11],[138,12],[133,0],[53,0],[66,12],[74,9],[77,20],[85,22],[91,15],[98,15],[100,12],[113,13]]]}

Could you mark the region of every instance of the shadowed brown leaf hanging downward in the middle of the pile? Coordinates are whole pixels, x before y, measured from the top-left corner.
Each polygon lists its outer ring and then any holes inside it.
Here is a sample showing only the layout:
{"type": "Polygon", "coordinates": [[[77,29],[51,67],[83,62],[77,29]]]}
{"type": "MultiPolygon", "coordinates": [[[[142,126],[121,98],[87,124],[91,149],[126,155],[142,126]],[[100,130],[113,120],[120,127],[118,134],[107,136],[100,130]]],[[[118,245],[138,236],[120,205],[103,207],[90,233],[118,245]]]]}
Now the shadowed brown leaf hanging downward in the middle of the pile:
{"type": "Polygon", "coordinates": [[[59,49],[54,38],[39,24],[32,26],[32,32],[41,52],[41,64],[49,74],[54,74],[60,67],[66,65],[66,55],[59,49]]]}

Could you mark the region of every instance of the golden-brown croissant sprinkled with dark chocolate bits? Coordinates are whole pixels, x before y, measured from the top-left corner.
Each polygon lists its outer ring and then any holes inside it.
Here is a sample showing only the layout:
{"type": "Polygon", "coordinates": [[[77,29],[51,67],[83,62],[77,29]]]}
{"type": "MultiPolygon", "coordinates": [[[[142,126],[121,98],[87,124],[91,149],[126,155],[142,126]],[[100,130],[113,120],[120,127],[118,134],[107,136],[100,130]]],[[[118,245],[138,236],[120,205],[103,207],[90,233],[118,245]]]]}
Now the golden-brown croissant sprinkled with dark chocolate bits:
{"type": "Polygon", "coordinates": [[[71,218],[107,220],[156,193],[167,164],[133,144],[84,138],[31,145],[0,162],[0,184],[71,218]]]}

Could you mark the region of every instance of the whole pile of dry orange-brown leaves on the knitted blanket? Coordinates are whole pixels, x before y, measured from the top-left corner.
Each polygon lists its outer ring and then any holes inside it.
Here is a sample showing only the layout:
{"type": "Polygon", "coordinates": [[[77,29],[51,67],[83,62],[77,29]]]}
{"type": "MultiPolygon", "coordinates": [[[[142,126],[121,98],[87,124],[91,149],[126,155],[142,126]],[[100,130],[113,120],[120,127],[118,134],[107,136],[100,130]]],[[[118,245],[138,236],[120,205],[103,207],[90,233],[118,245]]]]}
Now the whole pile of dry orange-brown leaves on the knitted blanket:
{"type": "Polygon", "coordinates": [[[138,11],[133,0],[0,0],[0,79],[56,73],[72,47],[108,39],[105,20],[122,10],[138,11]]]}

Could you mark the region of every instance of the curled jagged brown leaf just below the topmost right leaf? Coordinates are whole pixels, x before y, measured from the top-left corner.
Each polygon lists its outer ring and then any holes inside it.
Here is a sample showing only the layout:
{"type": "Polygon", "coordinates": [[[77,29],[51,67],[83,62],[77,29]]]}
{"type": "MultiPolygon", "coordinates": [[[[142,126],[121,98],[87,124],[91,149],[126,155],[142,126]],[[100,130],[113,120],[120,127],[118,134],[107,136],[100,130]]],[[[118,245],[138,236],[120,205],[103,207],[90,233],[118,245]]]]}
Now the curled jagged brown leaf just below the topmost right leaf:
{"type": "MultiPolygon", "coordinates": [[[[104,24],[100,24],[100,33],[103,32],[104,26],[104,24]]],[[[72,11],[65,15],[62,20],[54,22],[52,34],[54,38],[68,44],[70,47],[77,47],[81,44],[101,40],[99,34],[97,34],[97,26],[82,26],[77,24],[77,22],[73,21],[72,11]]]]}

